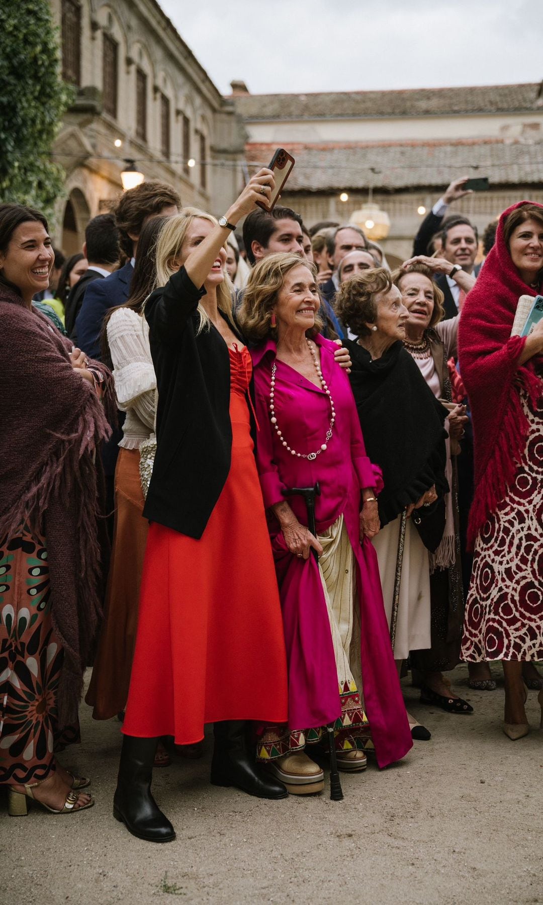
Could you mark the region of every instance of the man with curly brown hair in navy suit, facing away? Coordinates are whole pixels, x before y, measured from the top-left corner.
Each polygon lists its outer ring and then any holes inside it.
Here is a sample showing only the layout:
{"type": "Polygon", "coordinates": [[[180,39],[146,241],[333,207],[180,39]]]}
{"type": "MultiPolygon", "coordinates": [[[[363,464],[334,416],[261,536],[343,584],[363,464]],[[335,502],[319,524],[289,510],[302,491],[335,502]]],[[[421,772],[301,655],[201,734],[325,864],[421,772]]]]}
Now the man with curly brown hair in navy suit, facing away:
{"type": "Polygon", "coordinates": [[[100,331],[107,311],[129,298],[143,224],[151,217],[174,216],[179,213],[180,206],[181,199],[176,190],[161,182],[142,182],[120,196],[113,214],[119,230],[120,250],[129,260],[105,280],[94,280],[89,284],[75,322],[79,348],[90,358],[100,360],[100,331]]]}

